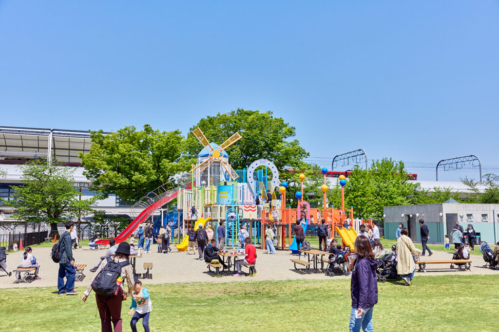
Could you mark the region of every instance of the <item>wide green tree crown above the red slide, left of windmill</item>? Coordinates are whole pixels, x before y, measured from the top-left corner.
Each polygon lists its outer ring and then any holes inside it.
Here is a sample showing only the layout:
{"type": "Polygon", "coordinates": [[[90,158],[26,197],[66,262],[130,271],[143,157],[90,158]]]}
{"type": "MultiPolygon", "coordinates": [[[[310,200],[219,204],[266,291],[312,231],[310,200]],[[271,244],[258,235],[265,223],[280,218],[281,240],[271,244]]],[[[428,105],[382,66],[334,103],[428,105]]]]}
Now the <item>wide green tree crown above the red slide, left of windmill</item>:
{"type": "Polygon", "coordinates": [[[80,154],[84,175],[92,181],[92,189],[107,197],[117,194],[133,203],[166,183],[171,176],[187,169],[181,161],[184,138],[180,131],[160,132],[145,125],[144,130],[125,127],[104,135],[90,132],[92,147],[80,154]]]}

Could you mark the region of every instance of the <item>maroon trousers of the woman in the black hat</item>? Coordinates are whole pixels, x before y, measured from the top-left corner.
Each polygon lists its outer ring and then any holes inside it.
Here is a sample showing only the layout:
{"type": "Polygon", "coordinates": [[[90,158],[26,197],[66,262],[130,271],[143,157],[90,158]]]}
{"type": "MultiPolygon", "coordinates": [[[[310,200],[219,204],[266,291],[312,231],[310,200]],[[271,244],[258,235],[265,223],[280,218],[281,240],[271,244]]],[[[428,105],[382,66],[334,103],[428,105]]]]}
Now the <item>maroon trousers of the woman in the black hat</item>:
{"type": "Polygon", "coordinates": [[[121,303],[123,301],[123,290],[118,290],[118,295],[102,296],[95,294],[97,309],[99,309],[100,324],[102,332],[112,332],[111,322],[113,322],[114,332],[121,332],[121,303]]]}

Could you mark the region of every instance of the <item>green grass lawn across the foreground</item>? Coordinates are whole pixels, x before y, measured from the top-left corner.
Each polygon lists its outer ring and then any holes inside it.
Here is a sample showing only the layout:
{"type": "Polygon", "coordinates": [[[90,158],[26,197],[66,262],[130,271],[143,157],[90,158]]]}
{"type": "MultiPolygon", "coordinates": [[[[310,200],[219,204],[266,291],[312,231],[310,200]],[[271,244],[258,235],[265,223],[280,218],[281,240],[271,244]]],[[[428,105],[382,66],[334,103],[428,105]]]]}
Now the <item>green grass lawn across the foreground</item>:
{"type": "MultiPolygon", "coordinates": [[[[411,287],[386,282],[378,288],[376,331],[498,329],[494,308],[499,306],[499,274],[416,275],[411,287]]],[[[164,331],[165,326],[172,331],[348,330],[348,279],[164,284],[148,289],[154,307],[151,331],[164,331]]],[[[77,290],[83,292],[82,287],[77,290]]],[[[99,331],[93,294],[83,303],[79,295],[59,296],[54,291],[0,290],[2,331],[99,331]]],[[[129,306],[130,300],[123,303],[124,331],[129,331],[129,306]]]]}

